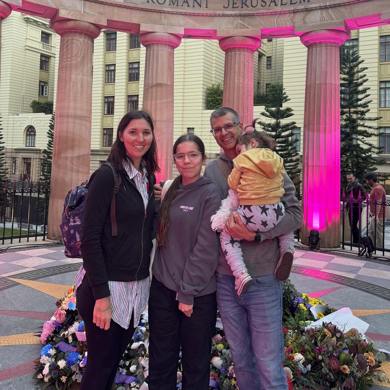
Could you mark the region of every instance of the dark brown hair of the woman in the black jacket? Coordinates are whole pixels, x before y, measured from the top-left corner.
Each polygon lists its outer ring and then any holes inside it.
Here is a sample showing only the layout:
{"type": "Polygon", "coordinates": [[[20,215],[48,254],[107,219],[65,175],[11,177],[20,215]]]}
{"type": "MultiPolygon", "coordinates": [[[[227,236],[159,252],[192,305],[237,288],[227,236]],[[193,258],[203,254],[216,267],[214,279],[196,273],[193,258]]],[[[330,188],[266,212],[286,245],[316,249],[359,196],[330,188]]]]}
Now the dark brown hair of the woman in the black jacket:
{"type": "MultiPolygon", "coordinates": [[[[157,158],[156,139],[154,138],[153,120],[149,113],[143,110],[130,111],[125,114],[120,120],[116,131],[116,140],[111,147],[110,155],[108,156],[107,161],[110,161],[110,163],[112,163],[119,172],[123,170],[122,161],[124,158],[129,157],[126,154],[126,149],[124,147],[123,142],[120,140],[120,137],[122,136],[124,129],[133,119],[145,119],[149,123],[150,129],[153,134],[153,141],[150,144],[150,148],[142,156],[142,158],[145,161],[146,171],[148,172],[148,175],[151,175],[154,172],[160,172],[160,167],[158,166],[157,158]]],[[[131,160],[131,158],[129,159],[131,160]]]]}

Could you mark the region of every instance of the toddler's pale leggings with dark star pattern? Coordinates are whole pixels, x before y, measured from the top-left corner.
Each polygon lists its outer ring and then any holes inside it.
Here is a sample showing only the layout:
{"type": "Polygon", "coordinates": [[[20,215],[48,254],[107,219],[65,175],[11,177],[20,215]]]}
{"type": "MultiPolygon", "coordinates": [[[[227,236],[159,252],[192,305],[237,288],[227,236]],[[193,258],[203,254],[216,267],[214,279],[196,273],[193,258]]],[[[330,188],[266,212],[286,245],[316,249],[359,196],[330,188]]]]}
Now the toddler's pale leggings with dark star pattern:
{"type": "MultiPolygon", "coordinates": [[[[274,205],[250,205],[239,206],[237,214],[246,227],[252,232],[268,232],[273,229],[284,216],[284,206],[282,202],[274,205]]],[[[290,250],[294,253],[294,232],[278,236],[280,253],[290,250]]],[[[235,278],[242,272],[248,272],[244,264],[240,241],[233,238],[223,229],[220,234],[220,241],[223,254],[226,257],[235,278]]]]}

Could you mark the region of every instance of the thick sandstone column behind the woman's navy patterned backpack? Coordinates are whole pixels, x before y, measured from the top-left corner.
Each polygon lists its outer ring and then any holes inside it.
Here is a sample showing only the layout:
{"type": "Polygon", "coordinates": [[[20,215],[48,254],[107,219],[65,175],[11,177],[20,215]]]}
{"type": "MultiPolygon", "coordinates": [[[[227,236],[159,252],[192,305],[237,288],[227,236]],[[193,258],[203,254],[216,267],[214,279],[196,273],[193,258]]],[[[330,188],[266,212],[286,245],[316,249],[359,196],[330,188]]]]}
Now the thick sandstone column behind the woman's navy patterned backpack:
{"type": "Polygon", "coordinates": [[[48,238],[55,239],[67,192],[89,179],[92,41],[100,28],[78,20],[55,21],[51,28],[61,36],[48,220],[48,238]]]}

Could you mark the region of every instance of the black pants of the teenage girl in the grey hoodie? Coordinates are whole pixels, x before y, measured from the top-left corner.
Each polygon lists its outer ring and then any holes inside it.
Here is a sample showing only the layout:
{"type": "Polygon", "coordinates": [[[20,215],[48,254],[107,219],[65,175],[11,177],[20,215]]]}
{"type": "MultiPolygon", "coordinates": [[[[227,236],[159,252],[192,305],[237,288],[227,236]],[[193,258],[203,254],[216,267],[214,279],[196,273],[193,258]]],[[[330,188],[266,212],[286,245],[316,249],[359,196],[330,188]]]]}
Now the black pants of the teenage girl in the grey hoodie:
{"type": "Polygon", "coordinates": [[[176,292],[152,279],[149,296],[149,390],[174,390],[182,349],[182,389],[208,390],[211,338],[215,334],[215,293],[196,297],[187,317],[176,292]]]}

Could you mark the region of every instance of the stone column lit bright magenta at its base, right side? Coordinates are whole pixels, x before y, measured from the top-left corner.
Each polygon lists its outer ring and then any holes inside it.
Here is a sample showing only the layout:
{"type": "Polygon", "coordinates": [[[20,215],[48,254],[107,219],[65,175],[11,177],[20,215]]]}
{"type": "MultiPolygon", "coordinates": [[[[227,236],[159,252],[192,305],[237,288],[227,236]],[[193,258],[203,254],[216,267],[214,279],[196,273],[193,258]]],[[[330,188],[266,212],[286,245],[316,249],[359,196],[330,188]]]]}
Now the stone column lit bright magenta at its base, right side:
{"type": "Polygon", "coordinates": [[[308,48],[303,143],[304,229],[319,231],[321,247],[340,246],[340,55],[343,30],[301,36],[308,48]]]}

